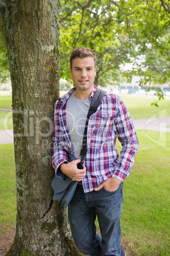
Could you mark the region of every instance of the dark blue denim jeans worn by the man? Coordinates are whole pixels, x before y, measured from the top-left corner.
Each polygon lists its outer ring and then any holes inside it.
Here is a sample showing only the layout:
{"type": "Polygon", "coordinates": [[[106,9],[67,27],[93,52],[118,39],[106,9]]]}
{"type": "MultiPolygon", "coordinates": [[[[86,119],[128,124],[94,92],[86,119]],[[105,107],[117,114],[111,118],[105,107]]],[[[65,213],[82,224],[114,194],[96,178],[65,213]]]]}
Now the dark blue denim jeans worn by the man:
{"type": "Polygon", "coordinates": [[[74,243],[82,253],[91,256],[124,255],[120,223],[122,203],[122,182],[114,192],[101,188],[84,193],[82,185],[77,185],[68,215],[74,243]],[[96,216],[101,235],[96,233],[96,216]]]}

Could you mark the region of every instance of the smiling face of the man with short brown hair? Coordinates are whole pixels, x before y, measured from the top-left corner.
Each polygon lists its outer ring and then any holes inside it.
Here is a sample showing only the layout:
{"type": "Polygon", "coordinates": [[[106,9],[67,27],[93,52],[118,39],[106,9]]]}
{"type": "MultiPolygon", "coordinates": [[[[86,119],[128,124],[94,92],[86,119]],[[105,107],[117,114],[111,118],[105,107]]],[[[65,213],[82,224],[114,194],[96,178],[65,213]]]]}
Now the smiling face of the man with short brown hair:
{"type": "Polygon", "coordinates": [[[92,92],[96,68],[93,57],[86,57],[84,59],[76,58],[72,60],[70,75],[72,76],[76,90],[79,90],[79,92],[84,90],[86,90],[87,93],[92,92]]]}

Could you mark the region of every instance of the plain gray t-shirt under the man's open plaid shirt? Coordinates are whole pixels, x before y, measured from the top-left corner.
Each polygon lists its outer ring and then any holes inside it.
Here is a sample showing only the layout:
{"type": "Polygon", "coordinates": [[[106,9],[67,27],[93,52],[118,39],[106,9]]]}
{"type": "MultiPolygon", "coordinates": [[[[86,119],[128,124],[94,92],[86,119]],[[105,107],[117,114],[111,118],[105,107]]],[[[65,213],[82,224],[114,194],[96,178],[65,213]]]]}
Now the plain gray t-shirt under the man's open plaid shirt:
{"type": "Polygon", "coordinates": [[[84,127],[90,107],[89,99],[77,99],[74,92],[69,98],[66,111],[66,122],[75,158],[80,158],[84,127]]]}

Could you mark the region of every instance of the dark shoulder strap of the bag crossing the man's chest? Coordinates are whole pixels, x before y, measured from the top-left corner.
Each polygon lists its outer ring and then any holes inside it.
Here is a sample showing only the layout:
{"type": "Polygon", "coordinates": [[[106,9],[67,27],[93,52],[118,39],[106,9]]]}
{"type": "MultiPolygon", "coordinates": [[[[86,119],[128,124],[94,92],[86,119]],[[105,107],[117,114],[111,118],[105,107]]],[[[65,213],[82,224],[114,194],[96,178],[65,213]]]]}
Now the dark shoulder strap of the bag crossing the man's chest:
{"type": "Polygon", "coordinates": [[[81,162],[84,162],[84,158],[86,157],[86,153],[88,151],[87,132],[88,132],[89,117],[96,112],[96,110],[97,110],[98,106],[100,105],[105,94],[106,94],[105,90],[101,90],[100,88],[98,88],[95,92],[95,95],[93,96],[93,98],[91,100],[90,108],[88,111],[88,116],[86,119],[86,125],[84,128],[84,136],[82,139],[82,147],[81,147],[81,153],[80,153],[81,162]]]}

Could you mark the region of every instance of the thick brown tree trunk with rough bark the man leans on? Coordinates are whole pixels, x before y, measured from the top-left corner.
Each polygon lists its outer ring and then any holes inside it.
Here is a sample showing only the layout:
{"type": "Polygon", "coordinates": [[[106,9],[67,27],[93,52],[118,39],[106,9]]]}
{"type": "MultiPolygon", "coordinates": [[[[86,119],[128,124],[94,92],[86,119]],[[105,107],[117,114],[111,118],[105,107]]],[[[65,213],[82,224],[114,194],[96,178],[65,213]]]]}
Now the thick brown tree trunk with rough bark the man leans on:
{"type": "Polygon", "coordinates": [[[16,235],[8,255],[79,255],[67,209],[52,198],[53,109],[59,96],[59,0],[0,1],[10,61],[16,163],[16,235]]]}

